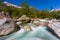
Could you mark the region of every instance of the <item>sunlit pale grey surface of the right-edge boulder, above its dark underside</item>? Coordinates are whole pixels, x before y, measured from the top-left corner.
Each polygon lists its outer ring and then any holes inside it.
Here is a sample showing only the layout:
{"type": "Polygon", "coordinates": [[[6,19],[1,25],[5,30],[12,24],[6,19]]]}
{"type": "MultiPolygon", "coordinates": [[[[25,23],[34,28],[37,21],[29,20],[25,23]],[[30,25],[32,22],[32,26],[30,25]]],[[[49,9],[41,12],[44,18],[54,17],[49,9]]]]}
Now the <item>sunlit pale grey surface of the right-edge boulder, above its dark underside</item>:
{"type": "Polygon", "coordinates": [[[53,32],[60,38],[60,22],[49,22],[48,28],[53,30],[53,32]]]}

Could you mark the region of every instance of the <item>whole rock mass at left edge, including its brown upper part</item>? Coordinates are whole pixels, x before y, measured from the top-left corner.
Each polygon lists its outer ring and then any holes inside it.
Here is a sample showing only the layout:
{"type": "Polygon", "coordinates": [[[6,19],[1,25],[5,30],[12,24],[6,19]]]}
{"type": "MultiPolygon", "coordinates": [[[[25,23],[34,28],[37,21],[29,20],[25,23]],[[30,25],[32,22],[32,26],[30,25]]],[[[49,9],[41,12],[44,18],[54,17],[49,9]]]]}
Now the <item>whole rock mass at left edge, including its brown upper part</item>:
{"type": "Polygon", "coordinates": [[[9,15],[0,12],[0,36],[10,34],[15,29],[15,23],[9,15]]]}

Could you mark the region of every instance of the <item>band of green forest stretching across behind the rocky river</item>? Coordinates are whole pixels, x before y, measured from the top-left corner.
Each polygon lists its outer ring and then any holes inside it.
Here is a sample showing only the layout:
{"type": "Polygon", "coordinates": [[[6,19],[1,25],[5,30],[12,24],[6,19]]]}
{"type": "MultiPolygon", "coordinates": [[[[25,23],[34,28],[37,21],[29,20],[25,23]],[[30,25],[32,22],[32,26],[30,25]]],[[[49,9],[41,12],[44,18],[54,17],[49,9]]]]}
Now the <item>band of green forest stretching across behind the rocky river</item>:
{"type": "Polygon", "coordinates": [[[34,9],[33,7],[28,6],[25,1],[21,4],[22,8],[15,8],[12,6],[6,6],[5,4],[2,4],[0,6],[0,11],[4,11],[10,14],[11,17],[21,17],[22,15],[27,15],[30,18],[57,18],[60,14],[60,11],[52,11],[49,12],[47,9],[43,9],[41,11],[38,11],[34,9]]]}

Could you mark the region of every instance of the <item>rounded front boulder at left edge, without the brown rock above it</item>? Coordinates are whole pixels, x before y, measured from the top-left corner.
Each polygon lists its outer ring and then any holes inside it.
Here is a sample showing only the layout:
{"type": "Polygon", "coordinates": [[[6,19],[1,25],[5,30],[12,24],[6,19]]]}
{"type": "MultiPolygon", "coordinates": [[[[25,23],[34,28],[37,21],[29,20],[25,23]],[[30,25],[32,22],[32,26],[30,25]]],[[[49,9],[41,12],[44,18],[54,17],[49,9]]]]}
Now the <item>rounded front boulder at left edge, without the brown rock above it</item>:
{"type": "Polygon", "coordinates": [[[14,22],[10,18],[2,18],[0,20],[0,36],[10,34],[14,31],[14,22]]]}

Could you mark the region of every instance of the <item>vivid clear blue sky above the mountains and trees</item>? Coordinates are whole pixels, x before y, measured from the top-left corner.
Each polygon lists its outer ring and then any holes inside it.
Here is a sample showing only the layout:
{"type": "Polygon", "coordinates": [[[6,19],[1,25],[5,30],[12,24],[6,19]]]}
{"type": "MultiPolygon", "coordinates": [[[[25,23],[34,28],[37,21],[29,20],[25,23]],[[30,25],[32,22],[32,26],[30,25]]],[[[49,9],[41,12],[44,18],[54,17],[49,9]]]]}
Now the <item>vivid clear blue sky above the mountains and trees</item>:
{"type": "MultiPolygon", "coordinates": [[[[5,0],[5,1],[13,3],[15,5],[20,5],[23,0],[5,0]]],[[[60,0],[26,0],[26,3],[29,6],[32,6],[38,10],[42,9],[50,10],[51,7],[53,9],[60,9],[60,0]]]]}

